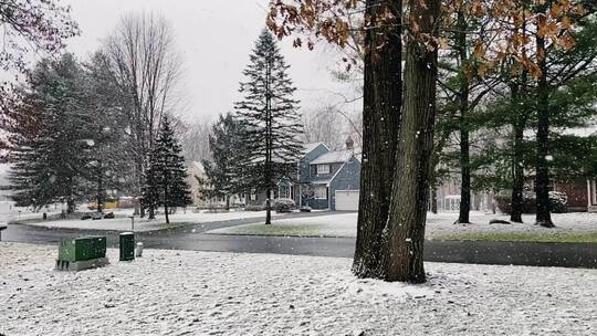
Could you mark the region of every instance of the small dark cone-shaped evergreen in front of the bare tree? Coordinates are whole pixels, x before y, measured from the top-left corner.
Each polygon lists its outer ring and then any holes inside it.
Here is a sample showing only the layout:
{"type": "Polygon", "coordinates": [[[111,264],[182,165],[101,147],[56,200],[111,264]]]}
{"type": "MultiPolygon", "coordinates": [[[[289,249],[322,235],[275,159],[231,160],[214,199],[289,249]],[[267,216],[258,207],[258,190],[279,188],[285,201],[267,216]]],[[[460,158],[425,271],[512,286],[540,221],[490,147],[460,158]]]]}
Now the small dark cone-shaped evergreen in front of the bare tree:
{"type": "Polygon", "coordinates": [[[169,209],[186,207],[191,202],[181,151],[170,120],[165,116],[146,171],[143,199],[150,218],[157,206],[164,206],[166,223],[170,223],[169,209]]]}

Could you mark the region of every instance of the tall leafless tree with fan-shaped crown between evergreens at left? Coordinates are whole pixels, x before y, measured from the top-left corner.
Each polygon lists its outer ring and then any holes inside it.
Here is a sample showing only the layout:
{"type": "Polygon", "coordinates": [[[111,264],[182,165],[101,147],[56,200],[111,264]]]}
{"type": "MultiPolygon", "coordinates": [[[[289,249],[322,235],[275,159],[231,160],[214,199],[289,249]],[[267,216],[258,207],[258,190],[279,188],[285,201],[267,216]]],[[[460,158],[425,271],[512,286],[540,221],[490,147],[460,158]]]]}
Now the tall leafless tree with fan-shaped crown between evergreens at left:
{"type": "Polygon", "coordinates": [[[171,114],[178,103],[176,85],[180,77],[180,59],[170,24],[155,13],[123,17],[105,40],[104,49],[115,81],[130,101],[130,108],[124,113],[135,162],[136,183],[132,191],[139,196],[161,117],[171,114]]]}

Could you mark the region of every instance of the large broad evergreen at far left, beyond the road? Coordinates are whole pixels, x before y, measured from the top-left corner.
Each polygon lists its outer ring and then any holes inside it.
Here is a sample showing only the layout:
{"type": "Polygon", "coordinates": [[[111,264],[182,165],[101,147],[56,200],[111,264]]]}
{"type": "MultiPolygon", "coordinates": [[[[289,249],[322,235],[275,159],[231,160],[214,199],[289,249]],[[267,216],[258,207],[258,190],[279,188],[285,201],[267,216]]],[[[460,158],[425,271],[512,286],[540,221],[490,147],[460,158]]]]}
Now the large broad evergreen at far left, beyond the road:
{"type": "Polygon", "coordinates": [[[95,145],[93,119],[82,106],[83,70],[71,54],[42,60],[32,72],[15,114],[28,123],[9,129],[13,144],[10,174],[14,199],[41,208],[75,201],[87,193],[91,153],[95,145]]]}

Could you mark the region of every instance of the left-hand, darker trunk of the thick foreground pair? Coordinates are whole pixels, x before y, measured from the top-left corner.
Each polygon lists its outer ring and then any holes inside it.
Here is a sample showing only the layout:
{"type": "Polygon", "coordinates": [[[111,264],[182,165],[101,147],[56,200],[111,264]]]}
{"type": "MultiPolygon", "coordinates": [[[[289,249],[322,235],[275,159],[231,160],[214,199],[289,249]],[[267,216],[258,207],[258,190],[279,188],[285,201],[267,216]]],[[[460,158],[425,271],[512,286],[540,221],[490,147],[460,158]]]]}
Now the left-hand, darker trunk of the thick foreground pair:
{"type": "MultiPolygon", "coordinates": [[[[400,20],[401,0],[367,0],[371,22],[389,9],[400,20]]],[[[400,21],[367,30],[363,106],[363,164],[353,272],[379,277],[402,101],[400,21]],[[384,45],[383,48],[379,48],[384,45]]]]}

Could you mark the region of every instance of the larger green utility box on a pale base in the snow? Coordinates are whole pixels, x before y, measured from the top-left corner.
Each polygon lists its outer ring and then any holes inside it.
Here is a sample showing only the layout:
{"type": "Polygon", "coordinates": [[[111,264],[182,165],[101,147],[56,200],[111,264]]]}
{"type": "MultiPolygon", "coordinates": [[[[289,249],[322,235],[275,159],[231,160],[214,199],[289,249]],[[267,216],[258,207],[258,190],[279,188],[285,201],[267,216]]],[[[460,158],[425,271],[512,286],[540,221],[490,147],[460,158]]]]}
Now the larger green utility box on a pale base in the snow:
{"type": "Polygon", "coordinates": [[[106,238],[102,235],[64,239],[59,245],[56,270],[81,271],[108,264],[106,238]]]}

